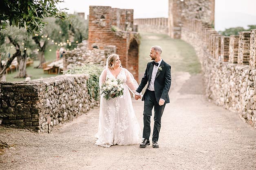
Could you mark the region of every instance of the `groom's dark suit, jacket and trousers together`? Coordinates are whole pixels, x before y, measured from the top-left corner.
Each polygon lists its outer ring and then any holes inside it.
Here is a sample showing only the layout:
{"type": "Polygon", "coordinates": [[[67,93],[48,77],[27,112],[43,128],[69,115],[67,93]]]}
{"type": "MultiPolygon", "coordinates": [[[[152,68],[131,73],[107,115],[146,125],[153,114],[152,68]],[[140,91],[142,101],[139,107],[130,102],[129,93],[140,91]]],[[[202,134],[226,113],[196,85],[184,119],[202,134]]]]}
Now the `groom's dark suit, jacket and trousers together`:
{"type": "Polygon", "coordinates": [[[144,111],[143,111],[143,138],[149,139],[150,137],[150,116],[152,116],[152,109],[154,107],[154,129],[152,141],[158,141],[159,132],[161,128],[161,117],[163,114],[164,107],[166,103],[169,103],[169,89],[171,87],[171,66],[165,61],[161,61],[161,64],[158,68],[155,80],[154,80],[154,91],[150,91],[148,89],[150,85],[150,80],[152,77],[153,71],[153,62],[149,62],[147,64],[146,71],[144,73],[143,78],[141,79],[141,83],[137,88],[136,92],[141,93],[142,89],[148,83],[146,91],[142,97],[142,101],[144,101],[144,111]],[[163,105],[159,105],[159,100],[165,100],[163,105]]]}

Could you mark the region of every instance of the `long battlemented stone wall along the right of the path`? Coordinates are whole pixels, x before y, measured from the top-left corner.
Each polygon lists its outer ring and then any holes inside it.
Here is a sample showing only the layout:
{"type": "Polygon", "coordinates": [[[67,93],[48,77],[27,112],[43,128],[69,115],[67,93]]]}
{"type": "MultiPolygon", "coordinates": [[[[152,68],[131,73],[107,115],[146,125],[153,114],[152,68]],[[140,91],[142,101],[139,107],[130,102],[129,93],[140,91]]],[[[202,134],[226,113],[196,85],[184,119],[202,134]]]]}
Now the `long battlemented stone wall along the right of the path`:
{"type": "Polygon", "coordinates": [[[184,20],[181,30],[201,61],[207,98],[256,128],[255,33],[224,37],[200,20],[184,20]]]}

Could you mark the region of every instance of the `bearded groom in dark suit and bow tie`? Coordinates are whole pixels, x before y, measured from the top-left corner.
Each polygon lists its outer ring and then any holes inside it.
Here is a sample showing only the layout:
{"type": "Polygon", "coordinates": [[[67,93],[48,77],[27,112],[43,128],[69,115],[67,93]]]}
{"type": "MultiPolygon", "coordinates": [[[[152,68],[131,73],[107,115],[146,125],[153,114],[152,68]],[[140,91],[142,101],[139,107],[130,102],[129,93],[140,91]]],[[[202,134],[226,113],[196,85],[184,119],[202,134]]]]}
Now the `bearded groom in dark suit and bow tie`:
{"type": "Polygon", "coordinates": [[[154,129],[152,136],[152,147],[159,148],[157,144],[159,132],[161,128],[161,117],[166,103],[169,103],[169,89],[171,87],[171,66],[161,59],[162,49],[160,46],[150,48],[150,57],[152,62],[148,63],[146,71],[141,83],[136,90],[135,100],[141,98],[141,91],[148,83],[146,91],[142,97],[144,101],[143,111],[143,142],[139,145],[140,148],[145,148],[150,145],[150,116],[154,107],[154,129]]]}

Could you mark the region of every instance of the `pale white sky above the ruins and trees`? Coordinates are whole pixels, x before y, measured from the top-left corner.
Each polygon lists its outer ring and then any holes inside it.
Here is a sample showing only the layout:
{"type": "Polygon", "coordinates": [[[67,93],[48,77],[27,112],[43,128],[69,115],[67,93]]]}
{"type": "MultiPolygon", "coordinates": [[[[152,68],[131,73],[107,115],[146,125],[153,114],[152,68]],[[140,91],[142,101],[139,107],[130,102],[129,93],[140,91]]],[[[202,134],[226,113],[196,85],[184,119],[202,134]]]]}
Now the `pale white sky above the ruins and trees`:
{"type": "MultiPolygon", "coordinates": [[[[68,13],[84,12],[89,6],[110,6],[112,8],[133,9],[133,17],[168,17],[168,0],[64,0],[59,6],[68,8],[68,13]]],[[[215,29],[256,25],[256,0],[215,0],[215,29]]]]}

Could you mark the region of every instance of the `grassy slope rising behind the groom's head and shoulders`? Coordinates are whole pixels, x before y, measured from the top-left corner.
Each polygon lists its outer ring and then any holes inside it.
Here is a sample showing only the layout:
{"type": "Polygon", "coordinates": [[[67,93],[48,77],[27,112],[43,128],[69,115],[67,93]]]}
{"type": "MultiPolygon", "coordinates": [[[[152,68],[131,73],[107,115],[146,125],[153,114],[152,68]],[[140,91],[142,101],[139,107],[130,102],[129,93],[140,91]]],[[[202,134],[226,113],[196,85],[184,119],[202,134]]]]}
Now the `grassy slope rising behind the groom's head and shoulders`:
{"type": "Polygon", "coordinates": [[[155,33],[140,33],[139,46],[139,77],[146,69],[146,64],[151,61],[150,47],[161,46],[161,57],[172,66],[172,72],[201,72],[201,65],[194,48],[181,39],[171,39],[168,35],[155,33]]]}

